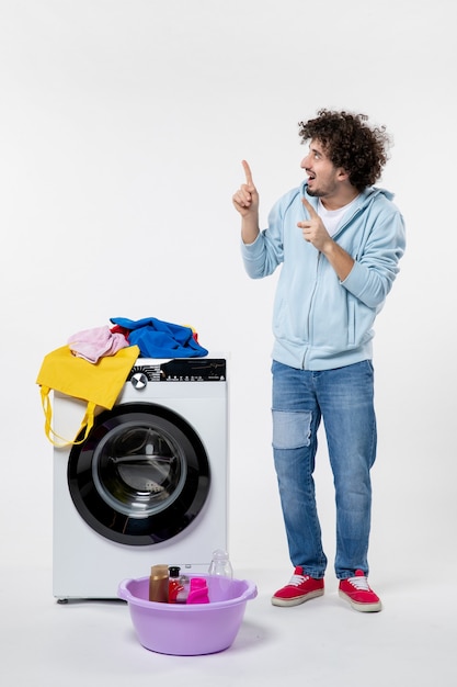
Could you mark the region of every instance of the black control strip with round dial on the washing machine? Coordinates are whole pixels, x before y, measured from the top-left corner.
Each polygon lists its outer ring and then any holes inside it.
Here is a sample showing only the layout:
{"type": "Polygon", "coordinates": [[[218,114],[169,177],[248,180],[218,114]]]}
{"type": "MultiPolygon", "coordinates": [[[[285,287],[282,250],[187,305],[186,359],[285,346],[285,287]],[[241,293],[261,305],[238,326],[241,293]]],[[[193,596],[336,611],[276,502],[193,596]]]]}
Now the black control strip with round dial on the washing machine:
{"type": "Polygon", "coordinates": [[[227,361],[222,358],[176,358],[167,362],[138,359],[127,378],[135,388],[148,382],[225,382],[227,361]]]}

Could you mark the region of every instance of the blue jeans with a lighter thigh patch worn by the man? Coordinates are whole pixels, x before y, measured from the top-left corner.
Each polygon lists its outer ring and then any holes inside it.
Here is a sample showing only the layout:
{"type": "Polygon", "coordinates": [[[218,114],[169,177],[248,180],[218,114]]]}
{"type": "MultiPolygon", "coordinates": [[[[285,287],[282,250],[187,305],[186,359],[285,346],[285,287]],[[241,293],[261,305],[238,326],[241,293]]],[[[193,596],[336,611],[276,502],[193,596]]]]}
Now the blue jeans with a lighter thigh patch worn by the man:
{"type": "Polygon", "coordinates": [[[367,575],[377,439],[372,362],[312,372],[273,361],[272,373],[273,454],[290,561],[311,577],[324,575],[312,477],[322,418],[335,488],[335,574],[367,575]]]}

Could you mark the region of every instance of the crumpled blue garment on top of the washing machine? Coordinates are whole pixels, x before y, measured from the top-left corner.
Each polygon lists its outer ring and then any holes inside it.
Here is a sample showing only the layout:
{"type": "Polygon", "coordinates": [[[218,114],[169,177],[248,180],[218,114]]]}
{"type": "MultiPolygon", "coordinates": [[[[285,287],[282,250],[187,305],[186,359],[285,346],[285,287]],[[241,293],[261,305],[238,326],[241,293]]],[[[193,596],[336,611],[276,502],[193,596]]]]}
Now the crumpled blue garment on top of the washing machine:
{"type": "Polygon", "coordinates": [[[191,327],[162,322],[156,317],[127,319],[112,317],[114,325],[129,329],[130,346],[138,346],[142,358],[197,358],[208,351],[195,339],[191,327]]]}

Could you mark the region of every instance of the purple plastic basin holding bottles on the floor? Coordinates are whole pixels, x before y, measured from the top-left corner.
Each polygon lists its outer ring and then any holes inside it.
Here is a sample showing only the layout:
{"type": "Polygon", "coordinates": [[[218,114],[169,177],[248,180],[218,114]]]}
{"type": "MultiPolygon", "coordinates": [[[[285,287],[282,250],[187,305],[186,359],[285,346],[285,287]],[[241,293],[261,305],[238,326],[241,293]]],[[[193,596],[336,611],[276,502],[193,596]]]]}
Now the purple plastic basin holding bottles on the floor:
{"type": "Polygon", "coordinates": [[[128,602],[139,643],[161,654],[195,656],[228,649],[240,629],[247,601],[258,595],[254,583],[214,575],[205,577],[209,604],[149,601],[149,577],[124,579],[117,589],[128,602]]]}

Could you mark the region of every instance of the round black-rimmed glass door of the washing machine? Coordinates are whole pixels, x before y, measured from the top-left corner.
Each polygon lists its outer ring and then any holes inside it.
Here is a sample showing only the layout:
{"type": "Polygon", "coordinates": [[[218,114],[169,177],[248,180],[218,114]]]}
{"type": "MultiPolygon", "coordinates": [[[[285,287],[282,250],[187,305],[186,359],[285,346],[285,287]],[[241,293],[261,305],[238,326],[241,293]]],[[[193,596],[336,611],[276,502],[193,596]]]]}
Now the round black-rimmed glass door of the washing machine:
{"type": "Polygon", "coordinates": [[[149,403],[102,413],[68,461],[80,516],[106,539],[129,545],[182,532],[201,513],[209,483],[209,461],[195,430],[149,403]]]}

